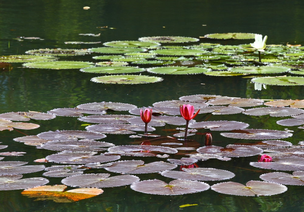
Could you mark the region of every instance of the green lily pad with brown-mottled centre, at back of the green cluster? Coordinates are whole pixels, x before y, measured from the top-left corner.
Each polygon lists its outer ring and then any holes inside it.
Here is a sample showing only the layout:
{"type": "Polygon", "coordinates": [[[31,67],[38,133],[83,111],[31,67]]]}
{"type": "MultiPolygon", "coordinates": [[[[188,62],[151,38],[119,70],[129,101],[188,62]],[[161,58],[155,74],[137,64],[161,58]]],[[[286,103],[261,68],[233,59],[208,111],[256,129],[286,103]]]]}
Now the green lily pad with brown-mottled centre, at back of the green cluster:
{"type": "Polygon", "coordinates": [[[159,43],[187,43],[199,41],[197,38],[188,38],[180,36],[155,36],[138,38],[139,41],[144,42],[159,42],[159,43]]]}

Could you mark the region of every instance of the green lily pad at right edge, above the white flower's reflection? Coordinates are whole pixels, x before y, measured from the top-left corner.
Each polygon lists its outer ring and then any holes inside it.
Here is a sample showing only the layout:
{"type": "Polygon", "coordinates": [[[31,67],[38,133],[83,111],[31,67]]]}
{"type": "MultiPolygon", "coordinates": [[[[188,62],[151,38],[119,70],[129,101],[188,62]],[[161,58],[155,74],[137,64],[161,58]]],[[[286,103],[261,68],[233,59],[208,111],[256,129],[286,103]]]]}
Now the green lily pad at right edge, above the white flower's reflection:
{"type": "Polygon", "coordinates": [[[304,85],[304,77],[258,77],[251,81],[267,85],[304,85]]]}

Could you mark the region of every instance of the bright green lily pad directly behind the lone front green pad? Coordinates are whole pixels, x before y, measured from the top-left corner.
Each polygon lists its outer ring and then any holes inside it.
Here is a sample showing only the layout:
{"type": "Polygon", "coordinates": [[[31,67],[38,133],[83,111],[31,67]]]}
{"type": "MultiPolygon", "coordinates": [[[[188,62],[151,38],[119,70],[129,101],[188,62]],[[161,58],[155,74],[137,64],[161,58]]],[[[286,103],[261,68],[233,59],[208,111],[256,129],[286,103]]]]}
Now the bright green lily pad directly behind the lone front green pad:
{"type": "Polygon", "coordinates": [[[123,74],[123,73],[135,73],[144,71],[143,68],[136,68],[131,66],[101,66],[92,68],[80,69],[82,72],[98,73],[98,74],[123,74]]]}

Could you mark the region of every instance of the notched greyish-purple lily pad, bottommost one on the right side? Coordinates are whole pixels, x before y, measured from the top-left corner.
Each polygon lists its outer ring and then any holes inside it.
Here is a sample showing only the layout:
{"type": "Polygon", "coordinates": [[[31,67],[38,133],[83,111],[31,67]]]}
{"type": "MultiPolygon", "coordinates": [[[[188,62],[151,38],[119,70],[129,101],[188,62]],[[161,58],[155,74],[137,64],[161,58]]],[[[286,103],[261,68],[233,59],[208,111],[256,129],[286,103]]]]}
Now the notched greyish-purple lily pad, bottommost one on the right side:
{"type": "Polygon", "coordinates": [[[224,182],[211,186],[211,189],[222,194],[238,196],[270,196],[287,191],[284,185],[265,181],[248,181],[246,186],[235,182],[224,182]]]}

